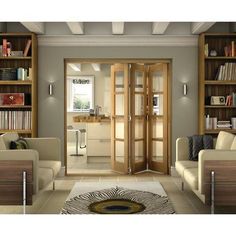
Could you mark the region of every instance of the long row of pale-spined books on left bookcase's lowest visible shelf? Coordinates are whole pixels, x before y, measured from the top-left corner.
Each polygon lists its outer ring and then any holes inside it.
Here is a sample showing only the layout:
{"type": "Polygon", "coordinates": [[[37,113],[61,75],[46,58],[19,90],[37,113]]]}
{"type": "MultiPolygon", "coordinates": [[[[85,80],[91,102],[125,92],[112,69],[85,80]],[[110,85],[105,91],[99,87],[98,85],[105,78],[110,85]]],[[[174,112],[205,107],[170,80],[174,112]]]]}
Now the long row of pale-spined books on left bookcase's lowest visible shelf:
{"type": "Polygon", "coordinates": [[[30,130],[31,111],[0,111],[0,129],[30,130]]]}

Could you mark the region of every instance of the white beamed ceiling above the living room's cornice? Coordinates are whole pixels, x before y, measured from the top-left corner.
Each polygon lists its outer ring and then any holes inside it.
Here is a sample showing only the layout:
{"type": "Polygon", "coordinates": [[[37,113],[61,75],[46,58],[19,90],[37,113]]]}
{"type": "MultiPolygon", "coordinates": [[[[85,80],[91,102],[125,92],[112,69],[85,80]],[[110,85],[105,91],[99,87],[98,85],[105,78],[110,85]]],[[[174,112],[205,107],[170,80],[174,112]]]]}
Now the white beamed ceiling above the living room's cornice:
{"type": "MultiPolygon", "coordinates": [[[[41,35],[194,35],[209,30],[216,22],[11,22],[21,31],[41,35]]],[[[223,22],[224,24],[224,22],[223,22]]]]}

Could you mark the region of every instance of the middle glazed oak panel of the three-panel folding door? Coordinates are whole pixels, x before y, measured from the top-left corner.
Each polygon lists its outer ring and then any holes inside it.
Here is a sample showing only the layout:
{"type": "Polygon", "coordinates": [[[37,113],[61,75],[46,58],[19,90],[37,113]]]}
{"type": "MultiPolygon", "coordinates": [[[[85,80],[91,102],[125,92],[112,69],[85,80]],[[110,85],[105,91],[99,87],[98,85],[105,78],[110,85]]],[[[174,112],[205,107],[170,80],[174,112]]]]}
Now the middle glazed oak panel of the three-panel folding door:
{"type": "Polygon", "coordinates": [[[130,165],[131,172],[147,168],[146,70],[131,64],[130,71],[130,165]]]}

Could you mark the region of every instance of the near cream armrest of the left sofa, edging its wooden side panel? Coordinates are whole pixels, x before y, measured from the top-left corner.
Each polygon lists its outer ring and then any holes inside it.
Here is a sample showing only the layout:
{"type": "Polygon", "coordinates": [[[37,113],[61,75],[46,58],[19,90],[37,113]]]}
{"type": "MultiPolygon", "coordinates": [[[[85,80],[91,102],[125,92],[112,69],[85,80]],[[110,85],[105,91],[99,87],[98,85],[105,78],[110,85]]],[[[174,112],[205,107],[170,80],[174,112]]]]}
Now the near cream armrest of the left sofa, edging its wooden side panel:
{"type": "Polygon", "coordinates": [[[39,155],[36,150],[1,150],[0,160],[19,161],[27,160],[33,161],[33,193],[38,192],[38,161],[39,155]]]}

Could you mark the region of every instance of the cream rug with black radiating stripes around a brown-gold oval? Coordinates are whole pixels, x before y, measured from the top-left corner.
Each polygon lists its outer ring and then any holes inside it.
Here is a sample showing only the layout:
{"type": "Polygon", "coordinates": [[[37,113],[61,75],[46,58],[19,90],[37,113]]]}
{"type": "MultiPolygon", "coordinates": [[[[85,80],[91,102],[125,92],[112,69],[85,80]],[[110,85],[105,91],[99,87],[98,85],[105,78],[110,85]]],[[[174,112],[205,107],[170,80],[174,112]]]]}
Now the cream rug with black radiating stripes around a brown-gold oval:
{"type": "MultiPolygon", "coordinates": [[[[94,191],[81,191],[81,188],[91,189],[91,183],[76,183],[66,200],[61,214],[173,214],[175,213],[169,199],[159,182],[143,183],[113,183],[94,191]],[[85,185],[87,184],[87,186],[85,185]],[[140,185],[145,186],[144,191],[140,185]],[[113,186],[112,186],[113,185],[113,186]],[[135,189],[135,185],[139,185],[135,189]],[[153,191],[146,191],[147,185],[153,185],[153,191]],[[129,188],[127,188],[130,186],[129,188]]],[[[96,186],[96,189],[98,186],[96,186]]]]}

